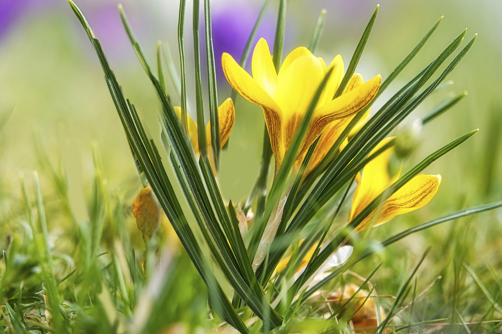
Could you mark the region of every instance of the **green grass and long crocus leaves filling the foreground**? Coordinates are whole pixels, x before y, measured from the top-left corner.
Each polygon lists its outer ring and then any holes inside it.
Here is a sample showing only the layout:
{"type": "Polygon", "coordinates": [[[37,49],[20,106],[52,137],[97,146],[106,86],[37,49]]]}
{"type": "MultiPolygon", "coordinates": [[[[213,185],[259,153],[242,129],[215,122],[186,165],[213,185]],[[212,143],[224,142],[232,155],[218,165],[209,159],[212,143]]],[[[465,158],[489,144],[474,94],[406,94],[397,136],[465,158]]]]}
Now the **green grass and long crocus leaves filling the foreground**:
{"type": "MultiPolygon", "coordinates": [[[[198,2],[194,4],[199,5],[198,2]]],[[[250,45],[268,4],[269,1],[266,1],[250,35],[240,60],[241,66],[247,60],[250,45]]],[[[219,172],[221,148],[217,135],[218,103],[209,1],[204,1],[204,23],[211,119],[211,151],[208,151],[212,153],[205,151],[206,143],[202,139],[205,138],[202,131],[205,122],[200,60],[196,52],[195,100],[200,139],[198,144],[201,148],[199,158],[187,135],[187,80],[183,51],[185,1],[180,2],[178,30],[182,64],[181,121],[171,105],[169,92],[166,92],[160,48],[157,71],[154,71],[129,27],[123,9],[119,8],[126,33],[158,93],[161,104],[159,119],[163,127],[161,145],[170,155],[172,170],[168,163],[161,161],[156,141],[147,136],[134,105],[124,95],[83,14],[71,0],[70,5],[102,66],[133,153],[132,158],[138,167],[138,185],[142,183],[145,187],[151,187],[165,217],[160,214],[161,221],[154,222],[158,226],[152,229],[153,232],[149,230],[144,233],[144,244],[135,244],[130,230],[134,219],[129,198],[124,198],[120,190],[108,189],[102,174],[99,151],[94,146],[89,220],[76,221],[69,204],[64,169],[59,165],[54,167],[43,147],[37,144],[40,167],[51,181],[53,193],[45,197],[42,195],[37,172],[26,180],[21,177],[19,196],[16,201],[10,202],[12,209],[0,223],[6,236],[2,241],[6,242],[3,245],[6,250],[0,267],[0,333],[185,333],[238,330],[242,333],[272,331],[277,334],[383,334],[403,330],[408,333],[447,330],[470,334],[492,333],[502,325],[499,320],[502,313],[499,306],[502,284],[497,277],[499,262],[485,267],[473,264],[477,257],[470,247],[475,242],[472,233],[475,219],[480,219],[473,214],[498,208],[502,202],[462,209],[416,224],[390,237],[380,233],[381,239],[375,236],[378,232],[373,232],[373,229],[364,231],[362,227],[374,224],[377,218],[368,217],[372,217],[372,214],[377,217],[375,213],[379,213],[387,199],[477,130],[453,140],[424,158],[370,201],[347,224],[344,224],[344,218],[340,218],[350,210],[346,200],[353,195],[352,185],[359,171],[388,148],[402,145],[402,142],[394,140],[383,147],[379,147],[379,143],[429,94],[441,88],[441,82],[468,52],[476,36],[426,87],[429,79],[462,42],[465,31],[462,32],[356,134],[350,135],[351,129],[372,102],[362,109],[349,122],[321,163],[306,175],[319,140],[310,146],[301,166],[293,166],[321,92],[331,75],[331,70],[328,70],[292,137],[281,166],[276,166],[269,192],[267,180],[273,151],[266,130],[263,164],[256,186],[245,201],[234,206],[232,201],[223,201],[215,176],[219,172]],[[349,136],[350,141],[339,150],[349,136]],[[174,186],[170,179],[173,173],[177,180],[174,186]],[[49,200],[54,201],[56,206],[48,215],[46,207],[49,200]],[[280,200],[283,200],[284,206],[277,218],[278,232],[268,245],[264,261],[254,263],[264,231],[271,221],[270,217],[276,215],[280,200]],[[183,209],[185,207],[191,213],[183,209]],[[238,217],[252,207],[256,217],[248,233],[243,235],[238,217]],[[439,259],[430,260],[434,250],[428,247],[419,260],[403,265],[399,260],[402,256],[398,253],[406,247],[401,240],[447,221],[454,221],[447,233],[450,242],[443,243],[443,249],[435,250],[435,256],[439,259]],[[58,234],[58,226],[62,228],[61,234],[58,234]],[[323,263],[346,243],[353,247],[353,254],[348,260],[345,258],[346,261],[340,260],[336,265],[329,266],[326,271],[323,263]],[[391,246],[395,243],[397,247],[391,246]],[[312,253],[306,257],[311,249],[312,253]],[[288,253],[291,257],[284,270],[276,271],[280,260],[288,253]],[[386,256],[387,259],[381,263],[378,256],[386,256]],[[306,263],[302,264],[304,259],[306,263]],[[434,261],[438,265],[425,265],[427,261],[434,261]],[[295,276],[302,266],[303,271],[295,276]],[[343,295],[348,283],[356,283],[359,288],[343,303],[328,298],[337,289],[343,295]],[[362,294],[364,300],[357,303],[361,298],[358,293],[363,290],[366,290],[362,294]],[[361,310],[367,310],[369,304],[374,307],[371,316],[367,316],[372,325],[354,328],[353,317],[361,310]]],[[[279,71],[282,61],[286,7],[286,1],[281,0],[273,55],[276,71],[279,71]]],[[[193,13],[195,16],[198,14],[198,7],[193,13]]],[[[377,14],[378,7],[362,34],[335,97],[342,95],[352,78],[377,14]]],[[[310,43],[312,51],[322,33],[325,15],[325,12],[321,12],[314,30],[310,43]]],[[[440,21],[384,81],[378,95],[417,55],[440,21]]],[[[198,37],[198,24],[194,24],[193,32],[198,37]]],[[[195,45],[198,48],[198,43],[195,45]]],[[[168,64],[168,68],[171,69],[170,75],[176,76],[172,64],[168,64]]],[[[447,111],[464,96],[455,96],[438,106],[422,119],[422,124],[426,125],[447,111]]],[[[233,95],[235,99],[236,95],[233,95]]],[[[7,120],[7,116],[4,118],[7,120]]],[[[394,158],[402,160],[404,156],[394,158]]],[[[493,163],[487,164],[492,171],[493,163]]],[[[155,206],[151,210],[160,211],[155,206]]],[[[487,215],[483,213],[479,216],[481,219],[490,219],[487,215]]]]}

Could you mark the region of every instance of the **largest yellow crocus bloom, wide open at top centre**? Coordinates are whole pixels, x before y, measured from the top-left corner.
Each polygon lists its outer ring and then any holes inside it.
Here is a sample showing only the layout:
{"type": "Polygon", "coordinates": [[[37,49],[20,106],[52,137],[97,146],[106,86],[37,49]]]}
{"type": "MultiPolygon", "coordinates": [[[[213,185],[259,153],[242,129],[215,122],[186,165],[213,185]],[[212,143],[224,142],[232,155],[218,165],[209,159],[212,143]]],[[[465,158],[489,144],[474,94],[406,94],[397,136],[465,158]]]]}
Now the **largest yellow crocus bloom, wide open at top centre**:
{"type": "MultiPolygon", "coordinates": [[[[253,77],[227,53],[223,53],[221,64],[232,88],[247,101],[262,107],[277,172],[315,91],[328,71],[326,63],[308,49],[299,47],[284,59],[277,74],[269,46],[262,38],[253,52],[253,77]]],[[[333,72],[317,103],[297,159],[307,151],[329,123],[360,111],[380,88],[382,78],[378,75],[333,99],[343,78],[343,61],[340,55],[333,59],[330,67],[333,67],[333,72]]]]}

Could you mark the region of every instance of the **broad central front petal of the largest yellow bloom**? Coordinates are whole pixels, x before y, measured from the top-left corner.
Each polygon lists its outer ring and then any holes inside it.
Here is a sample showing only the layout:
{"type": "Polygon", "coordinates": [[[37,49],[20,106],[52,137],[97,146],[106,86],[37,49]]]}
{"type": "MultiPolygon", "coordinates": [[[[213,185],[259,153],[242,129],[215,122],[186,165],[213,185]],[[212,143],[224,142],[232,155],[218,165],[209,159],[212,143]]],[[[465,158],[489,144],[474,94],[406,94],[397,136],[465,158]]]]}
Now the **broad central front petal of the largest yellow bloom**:
{"type": "Polygon", "coordinates": [[[311,55],[297,58],[284,72],[279,74],[279,84],[274,100],[283,113],[282,129],[285,151],[289,148],[323,77],[322,64],[311,55]]]}

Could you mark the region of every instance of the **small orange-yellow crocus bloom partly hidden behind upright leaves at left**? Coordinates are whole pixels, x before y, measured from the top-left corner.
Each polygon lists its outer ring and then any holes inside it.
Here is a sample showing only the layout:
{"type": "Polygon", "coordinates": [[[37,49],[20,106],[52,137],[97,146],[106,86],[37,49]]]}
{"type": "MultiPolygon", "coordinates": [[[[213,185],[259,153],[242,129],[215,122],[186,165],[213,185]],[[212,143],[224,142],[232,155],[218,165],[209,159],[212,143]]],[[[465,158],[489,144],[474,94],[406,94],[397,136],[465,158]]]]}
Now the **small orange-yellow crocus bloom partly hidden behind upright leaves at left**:
{"type": "MultiPolygon", "coordinates": [[[[173,107],[178,119],[181,120],[181,108],[173,107]]],[[[187,115],[188,118],[188,134],[190,136],[190,141],[192,142],[195,154],[199,153],[199,135],[197,133],[197,123],[187,115]]],[[[219,130],[220,130],[220,145],[223,147],[233,128],[233,121],[235,120],[235,110],[233,108],[232,99],[226,99],[218,107],[218,120],[219,120],[219,130]]],[[[206,126],[206,144],[208,148],[211,147],[211,122],[207,123],[206,126]]],[[[212,159],[209,159],[210,161],[212,159]]]]}

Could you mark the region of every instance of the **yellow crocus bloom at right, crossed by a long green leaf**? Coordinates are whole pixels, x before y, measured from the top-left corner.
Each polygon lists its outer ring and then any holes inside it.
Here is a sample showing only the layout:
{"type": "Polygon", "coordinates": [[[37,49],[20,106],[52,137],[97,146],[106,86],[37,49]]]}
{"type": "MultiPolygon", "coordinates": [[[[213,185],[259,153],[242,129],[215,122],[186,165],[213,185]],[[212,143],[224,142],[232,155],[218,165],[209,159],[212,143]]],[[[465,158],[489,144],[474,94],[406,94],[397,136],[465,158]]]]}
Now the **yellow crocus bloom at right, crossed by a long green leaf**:
{"type": "MultiPolygon", "coordinates": [[[[384,139],[377,145],[375,152],[383,145],[387,144],[392,138],[384,139]]],[[[371,160],[362,170],[362,176],[356,175],[357,188],[352,198],[352,208],[348,216],[350,222],[366,205],[368,205],[376,196],[380,195],[387,187],[397,181],[398,175],[389,176],[388,164],[389,157],[393,153],[391,147],[379,156],[371,160]]],[[[379,209],[378,217],[373,217],[375,211],[369,214],[357,227],[360,232],[366,229],[374,220],[374,226],[383,224],[397,215],[404,214],[425,206],[436,194],[441,175],[417,175],[389,197],[379,209]]]]}

